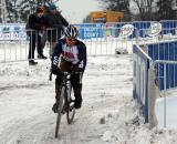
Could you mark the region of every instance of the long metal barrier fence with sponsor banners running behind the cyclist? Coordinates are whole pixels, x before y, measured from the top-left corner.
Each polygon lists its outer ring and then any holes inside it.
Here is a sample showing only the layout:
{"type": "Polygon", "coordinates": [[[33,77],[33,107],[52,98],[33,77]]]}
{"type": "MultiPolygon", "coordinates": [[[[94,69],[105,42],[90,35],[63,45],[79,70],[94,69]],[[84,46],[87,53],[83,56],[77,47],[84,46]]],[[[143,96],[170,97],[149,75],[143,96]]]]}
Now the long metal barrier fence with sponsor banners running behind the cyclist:
{"type": "MultiPolygon", "coordinates": [[[[135,43],[140,45],[149,42],[159,42],[159,40],[171,40],[176,39],[177,35],[176,20],[83,23],[75,25],[80,31],[79,38],[87,47],[88,55],[132,53],[132,48],[135,43]]],[[[0,25],[0,62],[28,60],[29,37],[24,27],[24,23],[0,25]]],[[[48,29],[46,35],[51,35],[52,33],[55,33],[55,30],[48,29]]],[[[55,43],[49,39],[43,49],[48,58],[51,55],[53,44],[55,43]]]]}

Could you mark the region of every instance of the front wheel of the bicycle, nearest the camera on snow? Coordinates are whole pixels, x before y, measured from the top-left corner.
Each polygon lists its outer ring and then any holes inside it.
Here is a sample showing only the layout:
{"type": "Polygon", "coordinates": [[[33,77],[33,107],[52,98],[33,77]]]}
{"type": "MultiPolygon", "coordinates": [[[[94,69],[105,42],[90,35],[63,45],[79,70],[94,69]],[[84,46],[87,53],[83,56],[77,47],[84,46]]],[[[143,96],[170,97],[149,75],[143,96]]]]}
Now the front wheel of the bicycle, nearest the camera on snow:
{"type": "Polygon", "coordinates": [[[58,109],[58,117],[56,117],[56,125],[55,125],[55,137],[58,137],[59,130],[60,130],[62,109],[63,109],[63,105],[64,105],[64,91],[65,91],[65,88],[62,88],[61,95],[60,95],[60,101],[59,101],[59,109],[58,109]]]}

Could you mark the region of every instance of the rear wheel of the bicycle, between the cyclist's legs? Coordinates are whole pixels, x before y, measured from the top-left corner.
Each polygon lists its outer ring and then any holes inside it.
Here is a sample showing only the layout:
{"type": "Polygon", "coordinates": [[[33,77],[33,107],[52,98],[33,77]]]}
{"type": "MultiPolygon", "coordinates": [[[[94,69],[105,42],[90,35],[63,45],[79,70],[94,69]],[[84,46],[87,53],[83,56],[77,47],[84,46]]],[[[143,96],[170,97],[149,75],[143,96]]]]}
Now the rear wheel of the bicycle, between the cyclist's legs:
{"type": "Polygon", "coordinates": [[[66,105],[67,105],[67,109],[66,109],[66,120],[67,120],[67,123],[71,124],[73,122],[73,119],[74,119],[74,115],[75,115],[75,107],[74,107],[74,94],[72,92],[72,88],[70,86],[67,89],[67,99],[65,100],[66,101],[66,105]]]}

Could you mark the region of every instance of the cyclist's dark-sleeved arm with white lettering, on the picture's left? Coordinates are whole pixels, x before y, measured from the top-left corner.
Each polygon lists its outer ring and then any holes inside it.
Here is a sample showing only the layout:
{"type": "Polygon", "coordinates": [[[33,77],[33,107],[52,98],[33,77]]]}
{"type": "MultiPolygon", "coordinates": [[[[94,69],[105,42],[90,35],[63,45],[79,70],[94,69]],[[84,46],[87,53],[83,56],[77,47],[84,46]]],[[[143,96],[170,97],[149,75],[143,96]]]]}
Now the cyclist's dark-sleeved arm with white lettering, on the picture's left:
{"type": "Polygon", "coordinates": [[[54,52],[52,55],[52,73],[56,75],[61,73],[58,66],[61,53],[62,53],[62,42],[59,42],[54,48],[54,52]]]}

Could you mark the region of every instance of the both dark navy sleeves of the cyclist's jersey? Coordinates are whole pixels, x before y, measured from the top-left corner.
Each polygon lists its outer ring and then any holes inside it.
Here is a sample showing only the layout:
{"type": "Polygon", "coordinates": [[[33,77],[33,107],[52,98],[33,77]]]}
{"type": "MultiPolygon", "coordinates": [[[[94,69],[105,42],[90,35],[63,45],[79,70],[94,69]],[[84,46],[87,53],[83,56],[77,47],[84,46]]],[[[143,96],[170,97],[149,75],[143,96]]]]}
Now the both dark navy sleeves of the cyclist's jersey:
{"type": "MultiPolygon", "coordinates": [[[[61,58],[63,56],[65,45],[66,45],[66,40],[61,39],[59,40],[56,48],[54,49],[54,52],[52,55],[52,73],[53,74],[60,73],[58,66],[59,66],[60,56],[61,58]]],[[[76,40],[75,47],[77,49],[79,61],[73,65],[80,68],[80,70],[84,72],[86,66],[86,47],[80,40],[76,40]]]]}

